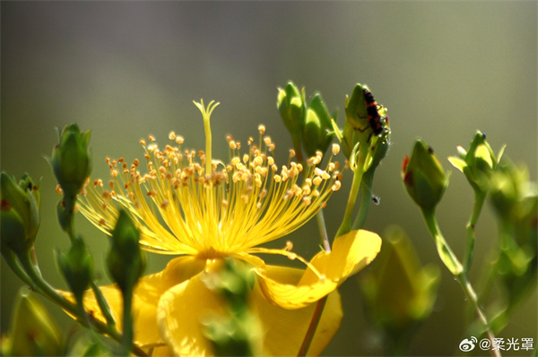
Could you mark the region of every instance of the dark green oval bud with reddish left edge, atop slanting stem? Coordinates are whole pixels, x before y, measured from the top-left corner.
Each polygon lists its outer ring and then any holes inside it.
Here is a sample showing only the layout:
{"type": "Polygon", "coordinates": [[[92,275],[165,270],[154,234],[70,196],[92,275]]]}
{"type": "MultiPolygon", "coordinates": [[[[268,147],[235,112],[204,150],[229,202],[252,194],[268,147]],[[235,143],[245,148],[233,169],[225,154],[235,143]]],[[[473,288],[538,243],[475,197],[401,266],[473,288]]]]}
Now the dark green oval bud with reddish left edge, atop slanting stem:
{"type": "Polygon", "coordinates": [[[404,158],[402,179],[405,189],[422,209],[433,209],[443,197],[448,175],[424,141],[417,140],[411,158],[404,158]]]}

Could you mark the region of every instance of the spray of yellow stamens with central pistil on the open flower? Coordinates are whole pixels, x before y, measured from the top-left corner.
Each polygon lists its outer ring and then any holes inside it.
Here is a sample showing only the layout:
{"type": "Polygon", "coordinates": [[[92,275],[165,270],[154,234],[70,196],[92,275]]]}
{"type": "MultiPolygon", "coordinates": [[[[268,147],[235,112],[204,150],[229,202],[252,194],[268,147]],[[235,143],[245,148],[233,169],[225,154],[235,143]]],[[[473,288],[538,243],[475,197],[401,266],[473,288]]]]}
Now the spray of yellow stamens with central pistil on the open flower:
{"type": "Polygon", "coordinates": [[[110,234],[118,208],[124,208],[141,230],[147,251],[204,258],[251,251],[281,254],[308,265],[291,251],[254,247],[291,233],[325,206],[340,188],[337,163],[331,157],[325,168],[317,167],[322,158],[318,154],[307,166],[290,161],[279,170],[270,154],[273,141],[262,139],[264,126],[259,127],[259,147],[249,140],[248,152],[241,152],[239,142],[230,137],[229,163],[213,162],[209,123],[217,105],[196,103],[204,117],[205,151],[176,147],[183,139],[174,132],[162,150],[154,138],[148,145],[141,140],[147,173],[139,171],[144,165],[138,160],[128,166],[123,159],[108,159],[108,184],[103,187],[103,180],[96,180],[87,185],[80,200],[82,214],[110,234]]]}

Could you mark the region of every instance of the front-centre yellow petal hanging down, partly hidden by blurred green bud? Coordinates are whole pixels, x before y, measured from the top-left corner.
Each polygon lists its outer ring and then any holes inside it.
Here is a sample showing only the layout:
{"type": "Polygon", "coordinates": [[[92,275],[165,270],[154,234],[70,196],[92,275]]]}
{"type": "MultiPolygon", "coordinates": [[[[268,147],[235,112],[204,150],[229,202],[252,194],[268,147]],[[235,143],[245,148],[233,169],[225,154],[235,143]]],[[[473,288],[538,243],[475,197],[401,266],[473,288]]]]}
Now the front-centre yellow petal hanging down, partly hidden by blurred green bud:
{"type": "Polygon", "coordinates": [[[224,302],[201,279],[207,272],[219,269],[220,263],[209,263],[204,273],[170,288],[161,296],[157,320],[161,336],[174,355],[213,355],[213,346],[204,336],[202,321],[213,313],[222,313],[224,302]]]}

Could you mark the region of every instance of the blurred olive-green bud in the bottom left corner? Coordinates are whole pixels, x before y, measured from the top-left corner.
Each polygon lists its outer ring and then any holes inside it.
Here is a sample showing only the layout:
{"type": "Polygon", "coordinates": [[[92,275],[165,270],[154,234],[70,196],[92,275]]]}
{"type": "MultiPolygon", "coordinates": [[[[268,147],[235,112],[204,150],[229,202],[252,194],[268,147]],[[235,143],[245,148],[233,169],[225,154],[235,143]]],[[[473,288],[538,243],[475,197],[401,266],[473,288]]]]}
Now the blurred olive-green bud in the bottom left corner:
{"type": "Polygon", "coordinates": [[[2,340],[4,356],[60,356],[63,339],[48,311],[32,293],[20,293],[11,327],[2,340]]]}

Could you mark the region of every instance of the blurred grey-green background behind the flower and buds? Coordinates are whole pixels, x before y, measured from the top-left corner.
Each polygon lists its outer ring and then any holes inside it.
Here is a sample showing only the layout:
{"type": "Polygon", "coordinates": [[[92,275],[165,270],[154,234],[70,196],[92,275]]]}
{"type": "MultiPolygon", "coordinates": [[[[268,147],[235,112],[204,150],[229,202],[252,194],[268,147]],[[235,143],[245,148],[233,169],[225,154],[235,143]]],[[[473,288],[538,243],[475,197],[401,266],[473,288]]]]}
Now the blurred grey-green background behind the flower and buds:
{"type": "MultiPolygon", "coordinates": [[[[439,224],[456,254],[464,252],[464,225],[473,193],[446,157],[487,132],[494,150],[537,171],[536,2],[2,2],[2,169],[42,177],[42,224],[36,242],[44,276],[59,287],[53,249],[69,242],[56,225],[55,180],[43,155],[56,143],[55,126],[79,123],[92,131],[92,177],[108,174],[105,157],[142,157],[138,140],[170,130],[186,147],[204,148],[203,123],[193,99],[221,102],[213,115],[214,156],[226,158],[228,133],[239,140],[265,123],[287,158],[291,140],[276,110],[276,88],[287,81],[322,93],[343,114],[356,82],[367,83],[388,107],[392,147],[377,169],[366,228],[382,234],[402,225],[422,263],[438,263],[421,215],[400,181],[413,140],[426,140],[453,171],[439,224]]],[[[340,123],[342,123],[342,118],[340,123]]],[[[347,177],[351,177],[348,175],[347,177]]],[[[346,201],[334,194],[325,211],[334,234],[346,201]]],[[[77,220],[103,272],[107,238],[77,220]]],[[[476,281],[497,240],[486,207],[477,228],[476,281]]],[[[317,225],[289,237],[309,257],[317,225]]],[[[283,246],[283,241],[277,242],[283,246]]],[[[149,255],[148,272],[169,257],[149,255]]],[[[412,341],[413,355],[453,355],[464,336],[464,295],[442,268],[431,318],[412,341]]],[[[13,295],[22,286],[2,260],[1,327],[7,329],[13,295]]],[[[102,273],[102,283],[108,277],[102,273]]],[[[326,355],[379,354],[364,319],[358,280],[340,289],[344,319],[326,355]]],[[[48,304],[65,327],[72,322],[48,304]]],[[[521,305],[501,337],[537,336],[536,293],[521,305]]],[[[523,355],[519,353],[518,355],[523,355]]]]}

